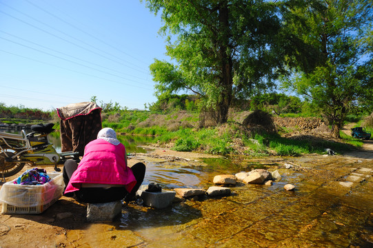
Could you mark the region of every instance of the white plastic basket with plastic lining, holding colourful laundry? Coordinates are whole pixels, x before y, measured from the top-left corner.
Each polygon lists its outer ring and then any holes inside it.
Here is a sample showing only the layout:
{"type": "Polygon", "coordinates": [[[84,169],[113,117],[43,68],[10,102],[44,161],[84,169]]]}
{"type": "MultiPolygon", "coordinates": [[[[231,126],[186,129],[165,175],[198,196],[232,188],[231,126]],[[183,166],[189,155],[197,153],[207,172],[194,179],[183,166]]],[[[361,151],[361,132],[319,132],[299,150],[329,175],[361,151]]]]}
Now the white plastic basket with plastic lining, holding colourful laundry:
{"type": "MultiPolygon", "coordinates": [[[[63,194],[61,173],[48,173],[51,180],[43,185],[17,185],[14,180],[0,189],[3,214],[40,214],[63,194]]],[[[17,180],[17,179],[15,179],[17,180]]]]}

